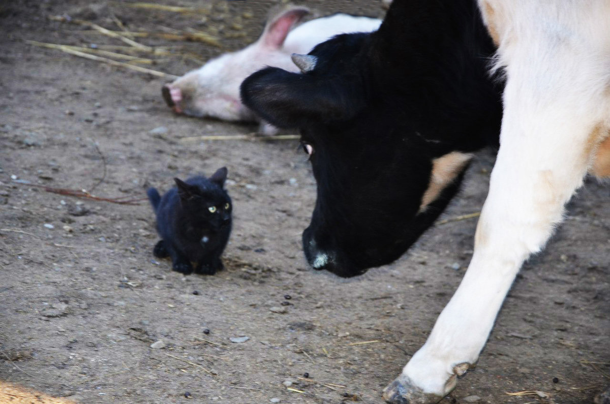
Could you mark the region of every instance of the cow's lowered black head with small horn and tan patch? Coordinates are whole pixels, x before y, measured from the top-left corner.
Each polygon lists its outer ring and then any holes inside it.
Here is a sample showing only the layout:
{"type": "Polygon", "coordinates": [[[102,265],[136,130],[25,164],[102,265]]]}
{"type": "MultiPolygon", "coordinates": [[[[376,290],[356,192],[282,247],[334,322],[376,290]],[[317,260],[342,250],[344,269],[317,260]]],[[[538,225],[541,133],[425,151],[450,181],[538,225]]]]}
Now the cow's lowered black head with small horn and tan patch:
{"type": "MultiPolygon", "coordinates": [[[[397,61],[389,48],[379,33],[338,35],[293,57],[302,73],[265,68],[242,84],[243,103],[260,117],[300,129],[317,181],[303,250],[315,269],[339,276],[400,257],[456,193],[489,121],[497,137],[497,93],[476,101],[493,106],[481,118],[489,105],[453,104],[469,83],[455,88],[436,77],[434,60],[397,61]]],[[[476,74],[486,82],[483,65],[476,74]]]]}

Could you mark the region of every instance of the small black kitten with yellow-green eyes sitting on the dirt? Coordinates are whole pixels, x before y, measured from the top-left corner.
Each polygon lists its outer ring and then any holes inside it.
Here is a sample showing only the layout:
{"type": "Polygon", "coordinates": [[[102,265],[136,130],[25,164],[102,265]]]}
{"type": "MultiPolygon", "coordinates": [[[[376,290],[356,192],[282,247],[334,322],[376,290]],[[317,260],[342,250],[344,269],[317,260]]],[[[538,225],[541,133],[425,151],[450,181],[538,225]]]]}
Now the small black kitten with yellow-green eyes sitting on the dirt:
{"type": "Polygon", "coordinates": [[[223,269],[220,255],[231,233],[231,198],[223,189],[226,167],[209,179],[195,176],[183,182],[163,198],[154,188],[146,193],[157,214],[157,232],[161,239],[152,253],[158,258],[171,257],[172,269],[184,273],[213,275],[223,269]]]}

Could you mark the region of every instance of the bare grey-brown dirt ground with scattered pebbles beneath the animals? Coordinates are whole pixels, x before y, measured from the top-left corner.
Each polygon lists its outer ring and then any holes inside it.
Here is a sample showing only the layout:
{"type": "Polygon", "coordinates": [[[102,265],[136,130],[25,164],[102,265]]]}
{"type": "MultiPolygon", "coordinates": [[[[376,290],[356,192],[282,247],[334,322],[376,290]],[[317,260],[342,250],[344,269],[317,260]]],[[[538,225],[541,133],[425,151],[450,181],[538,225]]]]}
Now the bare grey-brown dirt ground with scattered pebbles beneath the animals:
{"type": "MultiPolygon", "coordinates": [[[[378,1],[296,3],[321,14],[384,13],[378,1]]],[[[0,5],[0,384],[80,403],[380,403],[464,275],[476,218],[438,224],[399,261],[359,278],[314,272],[300,234],[315,182],[296,140],[181,140],[256,126],[176,117],[160,96],[167,78],[24,41],[126,45],[49,20],[59,15],[115,31],[117,21],[129,31],[192,27],[222,48],[134,39],[207,60],[256,39],[278,2],[163,4],[203,10],[0,5]],[[154,259],[146,201],[31,185],[143,198],[148,186],[167,190],[174,176],[223,165],[234,229],[226,270],[215,276],[183,276],[154,259]],[[157,341],[165,347],[151,348],[157,341]]],[[[181,75],[201,63],[156,59],[143,66],[181,75]]],[[[492,151],[478,156],[442,219],[479,211],[492,165],[492,151]]],[[[608,184],[587,181],[548,248],[520,273],[478,367],[443,403],[589,403],[610,383],[609,197],[608,184]]],[[[7,391],[0,402],[17,402],[7,391]]]]}

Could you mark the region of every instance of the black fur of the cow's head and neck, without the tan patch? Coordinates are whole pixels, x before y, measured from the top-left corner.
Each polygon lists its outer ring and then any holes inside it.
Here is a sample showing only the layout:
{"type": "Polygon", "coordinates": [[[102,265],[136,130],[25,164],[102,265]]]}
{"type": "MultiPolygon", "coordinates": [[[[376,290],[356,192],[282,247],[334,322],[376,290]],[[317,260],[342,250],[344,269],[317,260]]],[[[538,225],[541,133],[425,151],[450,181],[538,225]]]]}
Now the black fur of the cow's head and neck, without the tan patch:
{"type": "Polygon", "coordinates": [[[303,248],[354,276],[397,259],[445,209],[463,175],[418,213],[432,160],[497,145],[503,85],[473,0],[395,0],[379,31],[316,46],[314,70],[257,71],[242,100],[314,149],[317,201],[303,248]]]}

